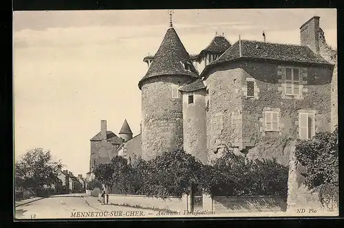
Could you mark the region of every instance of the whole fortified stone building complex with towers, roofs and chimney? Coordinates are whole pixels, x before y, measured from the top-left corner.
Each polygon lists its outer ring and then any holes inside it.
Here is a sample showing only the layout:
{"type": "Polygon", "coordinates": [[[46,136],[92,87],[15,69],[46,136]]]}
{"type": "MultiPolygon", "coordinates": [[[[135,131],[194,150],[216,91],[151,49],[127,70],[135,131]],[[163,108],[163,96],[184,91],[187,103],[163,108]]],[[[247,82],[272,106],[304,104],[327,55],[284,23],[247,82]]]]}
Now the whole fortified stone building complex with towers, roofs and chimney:
{"type": "Polygon", "coordinates": [[[100,157],[148,160],[178,149],[209,163],[226,147],[288,166],[288,139],[309,139],[337,122],[336,51],[319,19],[301,25],[300,45],[240,38],[231,45],[216,34],[193,55],[170,23],[158,52],[144,58],[141,133],[132,137],[125,121],[117,137],[105,124],[91,139],[90,166],[100,157]]]}

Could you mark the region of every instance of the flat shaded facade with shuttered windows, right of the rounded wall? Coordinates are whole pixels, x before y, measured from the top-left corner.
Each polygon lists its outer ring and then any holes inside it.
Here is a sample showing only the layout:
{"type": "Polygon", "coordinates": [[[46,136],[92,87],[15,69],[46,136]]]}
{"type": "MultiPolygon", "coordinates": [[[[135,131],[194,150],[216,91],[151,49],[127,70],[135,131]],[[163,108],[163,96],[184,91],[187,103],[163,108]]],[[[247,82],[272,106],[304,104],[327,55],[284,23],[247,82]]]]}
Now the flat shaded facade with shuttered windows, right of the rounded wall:
{"type": "Polygon", "coordinates": [[[250,158],[275,157],[288,166],[287,139],[299,138],[299,110],[316,111],[315,130],[330,131],[331,70],[322,67],[301,67],[301,95],[283,95],[283,65],[267,62],[242,63],[246,78],[254,78],[255,99],[243,100],[243,147],[250,158]],[[279,131],[264,130],[264,111],[279,112],[279,131]]]}

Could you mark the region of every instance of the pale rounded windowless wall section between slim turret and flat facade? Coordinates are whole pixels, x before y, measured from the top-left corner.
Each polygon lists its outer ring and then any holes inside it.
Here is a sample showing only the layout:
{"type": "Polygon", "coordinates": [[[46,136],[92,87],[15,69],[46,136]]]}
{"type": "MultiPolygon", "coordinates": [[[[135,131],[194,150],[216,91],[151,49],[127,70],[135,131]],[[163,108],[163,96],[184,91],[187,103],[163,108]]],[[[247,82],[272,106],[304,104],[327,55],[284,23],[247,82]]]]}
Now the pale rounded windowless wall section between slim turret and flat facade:
{"type": "Polygon", "coordinates": [[[225,146],[242,145],[242,69],[218,67],[206,78],[208,111],[206,134],[208,162],[221,157],[225,146]]]}

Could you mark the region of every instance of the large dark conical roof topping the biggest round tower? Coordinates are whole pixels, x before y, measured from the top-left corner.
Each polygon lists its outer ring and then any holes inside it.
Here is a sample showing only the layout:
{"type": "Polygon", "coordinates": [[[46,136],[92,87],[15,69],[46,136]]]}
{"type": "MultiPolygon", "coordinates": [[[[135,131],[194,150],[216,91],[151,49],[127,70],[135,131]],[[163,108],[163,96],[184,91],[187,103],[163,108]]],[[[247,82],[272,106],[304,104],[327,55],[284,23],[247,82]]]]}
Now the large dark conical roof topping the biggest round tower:
{"type": "Polygon", "coordinates": [[[167,30],[153,62],[146,75],[138,83],[138,87],[141,89],[142,82],[147,78],[164,75],[182,75],[199,78],[189,53],[186,52],[182,41],[180,41],[173,27],[169,27],[167,30]]]}

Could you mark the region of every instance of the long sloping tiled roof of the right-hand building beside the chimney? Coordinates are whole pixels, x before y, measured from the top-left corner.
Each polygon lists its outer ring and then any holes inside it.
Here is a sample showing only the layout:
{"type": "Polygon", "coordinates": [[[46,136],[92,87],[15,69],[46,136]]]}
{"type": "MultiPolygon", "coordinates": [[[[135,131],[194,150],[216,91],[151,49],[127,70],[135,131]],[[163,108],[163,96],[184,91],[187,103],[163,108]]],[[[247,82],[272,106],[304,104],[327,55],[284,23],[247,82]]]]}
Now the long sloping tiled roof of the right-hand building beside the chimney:
{"type": "MultiPolygon", "coordinates": [[[[314,54],[309,47],[301,45],[287,45],[262,41],[237,41],[227,49],[217,60],[206,66],[209,69],[218,63],[228,62],[239,58],[255,60],[274,60],[279,62],[298,62],[303,64],[330,65],[323,57],[314,54]]],[[[206,72],[202,72],[202,75],[206,72]]]]}

